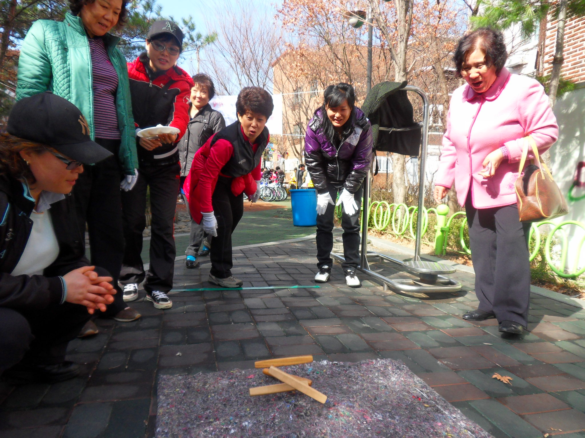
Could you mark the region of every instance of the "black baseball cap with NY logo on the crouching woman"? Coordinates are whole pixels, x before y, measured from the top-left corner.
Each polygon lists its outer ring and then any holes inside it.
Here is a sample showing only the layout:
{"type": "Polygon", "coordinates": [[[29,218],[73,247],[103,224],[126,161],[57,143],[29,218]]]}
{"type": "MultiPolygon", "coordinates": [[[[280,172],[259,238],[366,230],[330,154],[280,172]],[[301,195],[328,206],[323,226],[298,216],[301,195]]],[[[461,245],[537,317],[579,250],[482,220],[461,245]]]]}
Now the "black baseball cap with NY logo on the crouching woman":
{"type": "Polygon", "coordinates": [[[50,91],[16,102],[6,130],[16,137],[46,144],[84,164],[113,155],[91,140],[90,127],[78,107],[50,91]]]}

